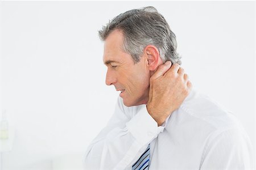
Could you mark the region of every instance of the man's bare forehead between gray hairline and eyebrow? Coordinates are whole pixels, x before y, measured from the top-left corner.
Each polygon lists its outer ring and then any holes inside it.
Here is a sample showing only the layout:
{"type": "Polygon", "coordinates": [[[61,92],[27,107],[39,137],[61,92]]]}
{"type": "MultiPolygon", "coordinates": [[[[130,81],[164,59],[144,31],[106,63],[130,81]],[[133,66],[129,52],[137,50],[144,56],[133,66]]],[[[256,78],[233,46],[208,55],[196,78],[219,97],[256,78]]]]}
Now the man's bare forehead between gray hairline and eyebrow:
{"type": "Polygon", "coordinates": [[[121,62],[123,56],[123,33],[114,30],[109,34],[104,42],[103,62],[108,64],[110,62],[121,62]]]}

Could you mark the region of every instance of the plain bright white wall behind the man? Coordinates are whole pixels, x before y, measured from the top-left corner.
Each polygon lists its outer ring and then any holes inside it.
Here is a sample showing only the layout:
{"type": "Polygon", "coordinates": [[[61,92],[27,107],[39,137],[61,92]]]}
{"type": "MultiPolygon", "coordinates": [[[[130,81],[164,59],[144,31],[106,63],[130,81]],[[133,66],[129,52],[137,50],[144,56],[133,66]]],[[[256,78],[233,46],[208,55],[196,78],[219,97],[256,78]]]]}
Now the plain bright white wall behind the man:
{"type": "Polygon", "coordinates": [[[2,107],[15,125],[4,169],[51,169],[104,127],[118,93],[105,85],[97,31],[155,6],[177,36],[193,87],[237,115],[254,147],[254,2],[1,2],[2,107]]]}

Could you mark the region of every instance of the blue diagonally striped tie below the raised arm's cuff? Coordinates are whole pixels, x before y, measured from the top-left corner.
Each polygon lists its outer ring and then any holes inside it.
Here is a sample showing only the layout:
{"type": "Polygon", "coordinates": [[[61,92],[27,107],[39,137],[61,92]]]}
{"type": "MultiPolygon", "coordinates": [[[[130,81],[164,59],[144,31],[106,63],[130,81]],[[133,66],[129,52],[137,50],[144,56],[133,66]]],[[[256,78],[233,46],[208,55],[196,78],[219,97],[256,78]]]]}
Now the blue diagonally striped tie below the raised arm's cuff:
{"type": "Polygon", "coordinates": [[[132,170],[148,170],[150,160],[150,144],[148,144],[146,151],[141,157],[133,164],[132,170]]]}

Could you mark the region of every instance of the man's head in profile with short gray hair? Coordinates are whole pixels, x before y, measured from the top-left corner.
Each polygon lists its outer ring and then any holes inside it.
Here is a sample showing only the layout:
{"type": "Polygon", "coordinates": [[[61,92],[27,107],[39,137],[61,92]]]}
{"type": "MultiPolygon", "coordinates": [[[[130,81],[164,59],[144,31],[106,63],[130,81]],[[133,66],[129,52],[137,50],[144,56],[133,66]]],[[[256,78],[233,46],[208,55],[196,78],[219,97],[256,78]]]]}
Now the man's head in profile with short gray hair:
{"type": "Polygon", "coordinates": [[[176,37],[154,7],[116,16],[102,27],[99,35],[101,40],[105,40],[105,61],[113,59],[121,62],[118,65],[114,63],[117,66],[114,68],[108,66],[106,84],[114,85],[117,90],[125,89],[121,97],[127,107],[147,104],[150,77],[159,65],[167,60],[180,63],[179,54],[168,50],[176,49],[176,46],[171,46],[176,45],[176,37]]]}

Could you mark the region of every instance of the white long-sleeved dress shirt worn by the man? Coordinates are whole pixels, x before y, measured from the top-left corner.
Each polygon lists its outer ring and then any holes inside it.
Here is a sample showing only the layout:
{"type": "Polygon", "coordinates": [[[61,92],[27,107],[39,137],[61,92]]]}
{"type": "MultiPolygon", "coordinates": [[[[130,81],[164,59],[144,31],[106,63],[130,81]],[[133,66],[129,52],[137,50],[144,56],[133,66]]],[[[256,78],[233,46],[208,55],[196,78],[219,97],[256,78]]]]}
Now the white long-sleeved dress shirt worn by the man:
{"type": "Polygon", "coordinates": [[[129,169],[150,143],[151,170],[253,169],[250,139],[237,118],[209,97],[191,91],[162,126],[146,105],[115,112],[85,154],[86,169],[129,169]]]}

